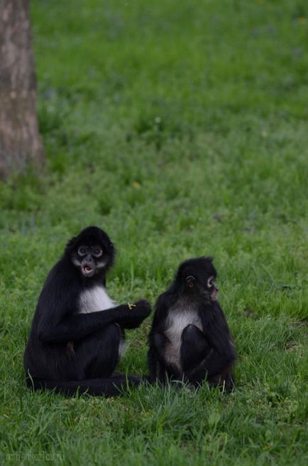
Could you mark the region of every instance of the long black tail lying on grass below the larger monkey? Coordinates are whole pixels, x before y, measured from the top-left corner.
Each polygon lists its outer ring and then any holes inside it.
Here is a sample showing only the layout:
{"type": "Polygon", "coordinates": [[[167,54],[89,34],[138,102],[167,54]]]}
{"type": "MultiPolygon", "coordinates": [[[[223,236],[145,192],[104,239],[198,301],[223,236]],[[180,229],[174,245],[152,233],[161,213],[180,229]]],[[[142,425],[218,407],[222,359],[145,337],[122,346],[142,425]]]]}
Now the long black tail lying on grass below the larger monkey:
{"type": "Polygon", "coordinates": [[[129,388],[137,387],[143,381],[148,381],[146,376],[117,375],[109,378],[89,378],[82,381],[45,381],[40,378],[26,378],[28,388],[34,391],[52,390],[65,396],[76,396],[87,393],[92,396],[121,396],[127,393],[129,388]]]}

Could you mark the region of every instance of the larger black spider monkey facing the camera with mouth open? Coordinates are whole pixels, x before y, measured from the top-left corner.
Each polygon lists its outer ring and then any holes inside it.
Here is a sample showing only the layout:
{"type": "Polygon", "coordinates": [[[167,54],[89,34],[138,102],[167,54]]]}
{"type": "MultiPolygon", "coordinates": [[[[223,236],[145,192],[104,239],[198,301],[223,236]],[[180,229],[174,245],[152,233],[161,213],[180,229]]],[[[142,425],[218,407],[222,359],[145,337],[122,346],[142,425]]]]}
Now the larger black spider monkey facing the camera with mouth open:
{"type": "Polygon", "coordinates": [[[141,378],[112,376],[121,356],[123,329],[150,314],[145,300],[116,305],[106,293],[106,273],[115,250],[100,228],[84,228],[67,243],[38,298],[24,354],[30,388],[74,396],[114,396],[141,378]]]}

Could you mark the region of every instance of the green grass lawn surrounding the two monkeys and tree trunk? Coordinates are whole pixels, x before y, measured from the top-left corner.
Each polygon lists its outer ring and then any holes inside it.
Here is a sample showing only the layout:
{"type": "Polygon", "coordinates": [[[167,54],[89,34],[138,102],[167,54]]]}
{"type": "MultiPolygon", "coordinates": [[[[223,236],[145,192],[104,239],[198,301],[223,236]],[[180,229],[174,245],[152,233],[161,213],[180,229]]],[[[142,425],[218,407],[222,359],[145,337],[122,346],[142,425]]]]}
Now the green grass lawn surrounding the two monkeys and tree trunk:
{"type": "MultiPolygon", "coordinates": [[[[1,464],[307,465],[307,2],[35,0],[32,24],[48,163],[1,185],[1,464]],[[118,302],[214,255],[234,393],[27,391],[40,288],[89,224],[118,302]]],[[[147,371],[150,321],[122,371],[147,371]]]]}

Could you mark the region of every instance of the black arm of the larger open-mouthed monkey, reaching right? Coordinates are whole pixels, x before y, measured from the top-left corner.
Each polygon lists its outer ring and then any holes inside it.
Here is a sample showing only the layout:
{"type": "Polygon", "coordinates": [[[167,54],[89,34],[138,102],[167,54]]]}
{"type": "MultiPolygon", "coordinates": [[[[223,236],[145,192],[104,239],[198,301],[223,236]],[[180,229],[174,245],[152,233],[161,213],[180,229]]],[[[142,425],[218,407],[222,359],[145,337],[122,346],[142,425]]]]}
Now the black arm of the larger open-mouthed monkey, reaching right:
{"type": "Polygon", "coordinates": [[[38,338],[41,341],[55,342],[75,341],[106,327],[119,324],[123,328],[138,327],[150,314],[150,305],[146,301],[136,303],[132,310],[128,305],[120,305],[112,309],[89,314],[70,314],[62,319],[53,317],[53,313],[43,314],[38,322],[38,338]]]}

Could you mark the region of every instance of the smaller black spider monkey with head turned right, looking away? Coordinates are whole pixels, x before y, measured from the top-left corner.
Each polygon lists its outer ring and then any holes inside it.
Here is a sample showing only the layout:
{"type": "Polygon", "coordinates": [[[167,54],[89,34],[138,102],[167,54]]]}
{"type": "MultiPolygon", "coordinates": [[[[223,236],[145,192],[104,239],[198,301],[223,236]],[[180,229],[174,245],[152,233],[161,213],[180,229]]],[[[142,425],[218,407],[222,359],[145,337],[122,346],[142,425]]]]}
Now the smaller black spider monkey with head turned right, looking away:
{"type": "Polygon", "coordinates": [[[148,365],[152,381],[188,381],[230,391],[236,350],[219,302],[212,258],[180,265],[172,285],[155,304],[148,365]]]}

